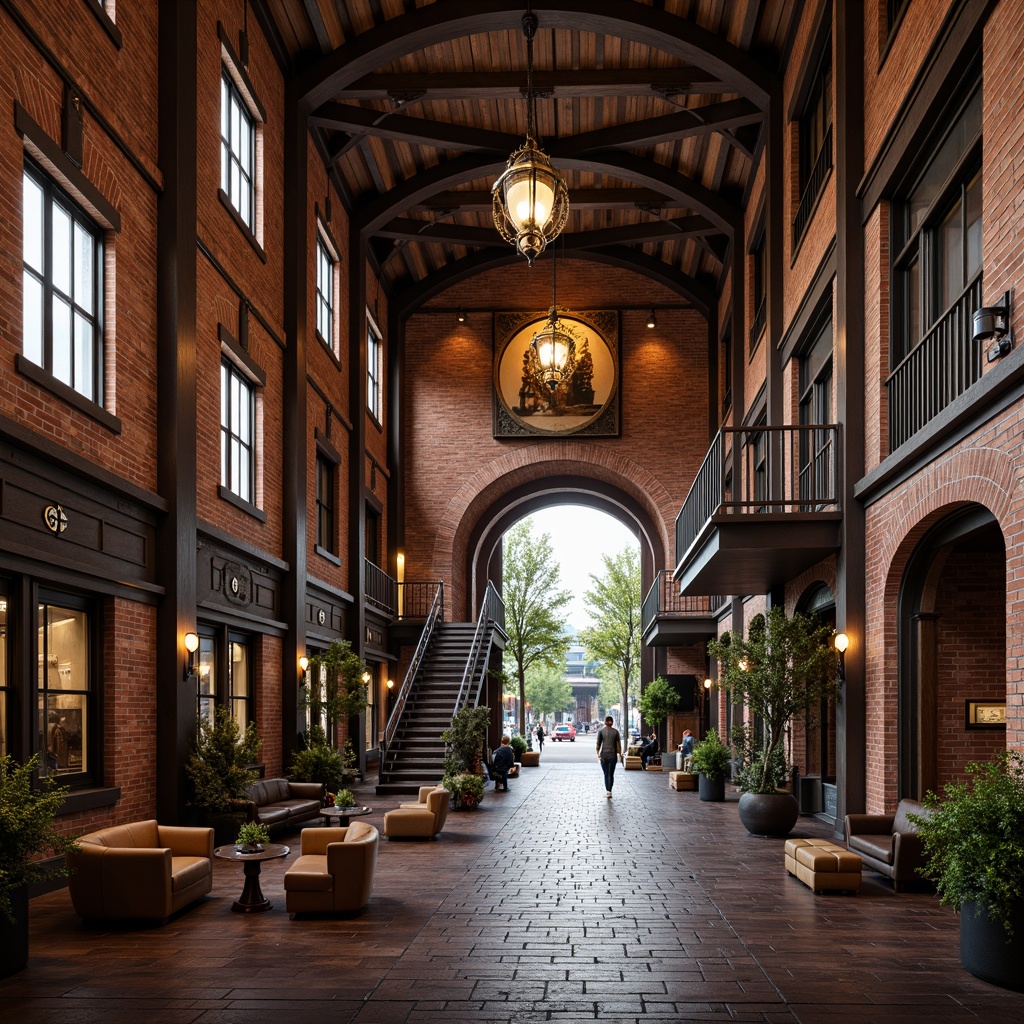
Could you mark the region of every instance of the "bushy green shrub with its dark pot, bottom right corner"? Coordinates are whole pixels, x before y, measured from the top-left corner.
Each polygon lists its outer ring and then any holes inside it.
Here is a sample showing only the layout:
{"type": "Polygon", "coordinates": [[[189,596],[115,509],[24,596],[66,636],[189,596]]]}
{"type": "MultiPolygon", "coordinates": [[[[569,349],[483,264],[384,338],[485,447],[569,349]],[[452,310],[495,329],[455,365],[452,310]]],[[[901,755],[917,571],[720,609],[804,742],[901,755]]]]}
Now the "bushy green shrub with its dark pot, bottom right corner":
{"type": "Polygon", "coordinates": [[[1024,991],[1024,755],[972,761],[967,779],[925,797],[911,815],[928,856],[922,874],[961,915],[961,963],[984,981],[1024,991]]]}

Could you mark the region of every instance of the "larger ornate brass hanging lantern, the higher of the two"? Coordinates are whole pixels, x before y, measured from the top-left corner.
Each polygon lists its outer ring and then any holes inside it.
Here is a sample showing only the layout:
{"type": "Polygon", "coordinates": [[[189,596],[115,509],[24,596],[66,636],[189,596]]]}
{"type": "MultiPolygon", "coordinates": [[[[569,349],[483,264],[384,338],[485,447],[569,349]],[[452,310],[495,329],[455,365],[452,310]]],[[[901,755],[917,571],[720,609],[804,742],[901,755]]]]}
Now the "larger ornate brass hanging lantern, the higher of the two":
{"type": "Polygon", "coordinates": [[[565,226],[569,213],[565,181],[531,138],[509,157],[490,195],[495,226],[529,263],[565,226]]]}

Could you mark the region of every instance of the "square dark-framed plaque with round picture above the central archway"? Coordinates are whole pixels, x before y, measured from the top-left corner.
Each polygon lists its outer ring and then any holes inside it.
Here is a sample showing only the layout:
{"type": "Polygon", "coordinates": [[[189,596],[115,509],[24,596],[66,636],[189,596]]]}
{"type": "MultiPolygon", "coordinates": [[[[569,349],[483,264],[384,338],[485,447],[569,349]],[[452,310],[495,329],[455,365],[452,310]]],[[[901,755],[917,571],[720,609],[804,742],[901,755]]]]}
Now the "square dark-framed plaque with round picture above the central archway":
{"type": "Polygon", "coordinates": [[[618,313],[495,314],[495,437],[617,437],[618,313]]]}

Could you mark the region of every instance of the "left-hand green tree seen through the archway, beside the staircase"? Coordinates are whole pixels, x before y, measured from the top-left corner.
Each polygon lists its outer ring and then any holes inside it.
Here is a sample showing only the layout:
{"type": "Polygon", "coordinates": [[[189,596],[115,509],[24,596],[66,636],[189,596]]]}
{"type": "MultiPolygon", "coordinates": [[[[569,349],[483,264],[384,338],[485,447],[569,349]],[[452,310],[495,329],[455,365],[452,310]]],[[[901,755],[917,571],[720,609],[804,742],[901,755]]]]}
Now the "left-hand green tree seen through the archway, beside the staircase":
{"type": "Polygon", "coordinates": [[[503,541],[502,597],[505,600],[506,671],[519,684],[519,731],[526,732],[526,674],[535,667],[565,668],[569,638],[563,632],[572,595],[559,589],[559,565],[551,537],[534,535],[529,517],[503,541]]]}

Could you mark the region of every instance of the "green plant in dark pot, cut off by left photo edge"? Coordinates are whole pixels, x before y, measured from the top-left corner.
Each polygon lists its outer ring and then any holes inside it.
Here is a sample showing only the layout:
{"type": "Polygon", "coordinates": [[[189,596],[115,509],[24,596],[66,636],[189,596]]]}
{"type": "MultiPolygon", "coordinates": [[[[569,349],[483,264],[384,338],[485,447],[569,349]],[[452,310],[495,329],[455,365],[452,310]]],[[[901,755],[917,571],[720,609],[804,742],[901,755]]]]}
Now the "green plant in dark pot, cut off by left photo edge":
{"type": "Polygon", "coordinates": [[[0,758],[0,978],[29,963],[29,884],[67,873],[62,862],[44,865],[37,858],[78,849],[73,836],[53,825],[68,790],[55,785],[52,775],[36,788],[38,768],[38,754],[24,765],[9,754],[0,758]]]}

